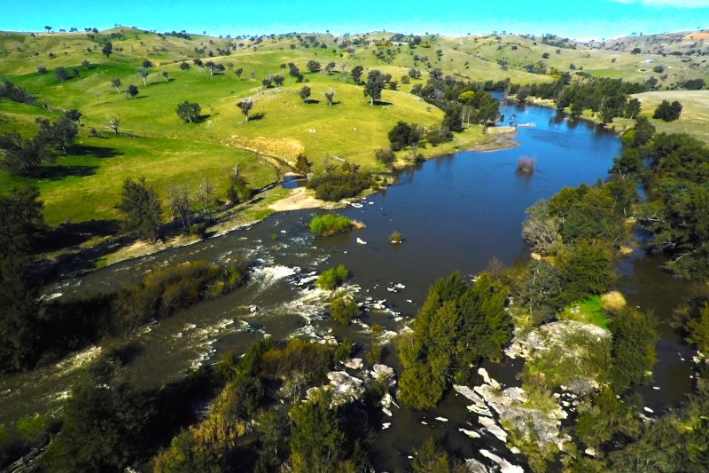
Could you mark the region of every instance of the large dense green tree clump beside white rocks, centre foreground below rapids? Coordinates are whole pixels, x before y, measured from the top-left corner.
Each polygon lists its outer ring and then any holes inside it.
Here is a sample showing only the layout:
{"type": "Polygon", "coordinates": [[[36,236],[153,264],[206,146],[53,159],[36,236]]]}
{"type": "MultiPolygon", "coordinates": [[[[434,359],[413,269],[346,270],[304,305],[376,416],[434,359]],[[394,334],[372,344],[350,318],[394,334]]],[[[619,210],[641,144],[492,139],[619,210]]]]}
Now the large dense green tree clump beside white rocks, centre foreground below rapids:
{"type": "Polygon", "coordinates": [[[483,274],[472,285],[454,272],[429,289],[413,332],[398,341],[399,397],[415,409],[436,406],[450,382],[471,379],[481,359],[500,359],[510,341],[509,288],[483,274]]]}

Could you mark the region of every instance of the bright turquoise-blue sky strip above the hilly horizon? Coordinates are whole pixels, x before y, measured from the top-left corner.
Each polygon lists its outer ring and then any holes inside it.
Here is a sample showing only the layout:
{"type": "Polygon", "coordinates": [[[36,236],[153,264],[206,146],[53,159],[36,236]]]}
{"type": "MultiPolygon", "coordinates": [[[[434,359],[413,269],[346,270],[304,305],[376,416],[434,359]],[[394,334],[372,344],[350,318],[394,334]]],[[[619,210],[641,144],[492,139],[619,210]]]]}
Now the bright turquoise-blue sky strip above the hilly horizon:
{"type": "Polygon", "coordinates": [[[0,0],[0,30],[113,28],[185,29],[209,35],[386,29],[442,35],[555,33],[611,38],[709,28],[709,0],[0,0]]]}

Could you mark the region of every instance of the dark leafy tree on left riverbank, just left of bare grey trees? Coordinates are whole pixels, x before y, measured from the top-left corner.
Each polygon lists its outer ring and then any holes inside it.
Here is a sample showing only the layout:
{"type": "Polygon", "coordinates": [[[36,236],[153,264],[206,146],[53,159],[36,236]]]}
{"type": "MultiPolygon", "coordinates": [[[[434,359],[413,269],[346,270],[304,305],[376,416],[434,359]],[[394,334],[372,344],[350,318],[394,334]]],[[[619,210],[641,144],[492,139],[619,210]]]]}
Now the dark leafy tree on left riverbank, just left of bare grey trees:
{"type": "Polygon", "coordinates": [[[160,225],[160,199],[152,185],[145,183],[145,177],[137,181],[131,178],[123,182],[123,193],[118,209],[125,215],[125,227],[153,241],[158,239],[160,225]]]}

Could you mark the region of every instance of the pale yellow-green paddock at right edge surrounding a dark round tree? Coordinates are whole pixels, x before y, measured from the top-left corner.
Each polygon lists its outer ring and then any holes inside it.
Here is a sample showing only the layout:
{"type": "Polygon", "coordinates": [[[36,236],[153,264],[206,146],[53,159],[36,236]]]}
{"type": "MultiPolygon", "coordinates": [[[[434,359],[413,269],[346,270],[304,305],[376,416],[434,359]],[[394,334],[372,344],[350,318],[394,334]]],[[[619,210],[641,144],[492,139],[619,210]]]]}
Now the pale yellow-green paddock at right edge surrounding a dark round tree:
{"type": "Polygon", "coordinates": [[[658,131],[689,133],[709,143],[709,91],[658,91],[635,95],[643,104],[641,114],[646,115],[658,131]],[[678,100],[682,114],[674,122],[655,120],[652,114],[662,102],[678,100]]]}

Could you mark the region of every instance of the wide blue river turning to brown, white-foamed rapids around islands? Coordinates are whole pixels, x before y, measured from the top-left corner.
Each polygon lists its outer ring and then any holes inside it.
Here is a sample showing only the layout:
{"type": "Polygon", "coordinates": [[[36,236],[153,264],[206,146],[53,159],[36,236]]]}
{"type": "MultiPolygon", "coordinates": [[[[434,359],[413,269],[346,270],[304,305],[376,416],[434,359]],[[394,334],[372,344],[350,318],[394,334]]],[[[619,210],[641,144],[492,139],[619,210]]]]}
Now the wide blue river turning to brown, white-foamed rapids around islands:
{"type": "MultiPolygon", "coordinates": [[[[508,117],[517,114],[518,123],[535,125],[518,128],[518,147],[457,153],[402,171],[397,185],[360,201],[361,207],[339,211],[362,221],[366,228],[360,231],[314,237],[308,233],[308,221],[321,211],[287,212],[219,238],[64,280],[49,292],[72,296],[114,290],[156,267],[248,256],[254,269],[245,288],[181,311],[133,337],[136,354],[129,370],[146,388],[178,379],[185,370],[211,362],[224,351],[243,351],[265,335],[323,340],[332,334],[366,346],[368,326],[378,323],[387,336],[398,332],[416,315],[437,278],[456,270],[464,276],[480,272],[493,256],[508,265],[525,262],[529,254],[520,237],[525,209],[562,186],[604,178],[619,154],[619,139],[591,123],[569,122],[539,106],[503,106],[502,112],[508,117]],[[522,156],[536,160],[533,175],[516,171],[522,156]],[[403,234],[403,244],[389,243],[393,230],[403,234]],[[326,297],[312,282],[316,272],[340,263],[352,272],[345,290],[366,304],[362,325],[339,327],[323,319],[326,297]]],[[[683,286],[661,272],[660,264],[638,250],[619,264],[623,277],[618,283],[630,304],[654,311],[661,322],[655,382],[642,390],[655,408],[678,401],[690,389],[690,366],[682,361],[690,359],[690,351],[666,325],[683,286]]],[[[74,367],[90,354],[0,380],[0,422],[59,406],[58,398],[74,379],[74,367]]],[[[396,364],[393,350],[385,351],[385,356],[386,363],[396,364]]],[[[495,378],[511,383],[519,365],[517,361],[487,368],[495,378]]],[[[477,449],[492,445],[515,460],[494,438],[471,440],[457,430],[465,427],[465,404],[449,393],[435,413],[394,410],[393,418],[386,420],[392,427],[378,434],[377,469],[406,468],[412,447],[428,437],[445,440],[448,449],[461,457],[479,457],[477,449]],[[450,421],[430,422],[436,416],[450,421]]]]}

